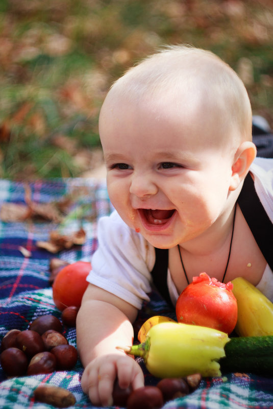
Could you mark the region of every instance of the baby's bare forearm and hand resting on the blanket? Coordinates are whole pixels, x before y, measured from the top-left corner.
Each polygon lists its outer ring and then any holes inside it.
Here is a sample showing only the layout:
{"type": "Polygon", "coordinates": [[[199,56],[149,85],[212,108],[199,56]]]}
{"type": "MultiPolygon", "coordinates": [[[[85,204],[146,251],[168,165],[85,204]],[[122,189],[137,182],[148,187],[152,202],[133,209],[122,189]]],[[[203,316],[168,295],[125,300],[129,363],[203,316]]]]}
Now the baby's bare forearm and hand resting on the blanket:
{"type": "Polygon", "coordinates": [[[133,389],[144,384],[133,357],[116,349],[132,345],[137,309],[126,301],[89,284],[77,317],[77,345],[85,367],[82,388],[95,405],[111,405],[113,383],[133,389]]]}

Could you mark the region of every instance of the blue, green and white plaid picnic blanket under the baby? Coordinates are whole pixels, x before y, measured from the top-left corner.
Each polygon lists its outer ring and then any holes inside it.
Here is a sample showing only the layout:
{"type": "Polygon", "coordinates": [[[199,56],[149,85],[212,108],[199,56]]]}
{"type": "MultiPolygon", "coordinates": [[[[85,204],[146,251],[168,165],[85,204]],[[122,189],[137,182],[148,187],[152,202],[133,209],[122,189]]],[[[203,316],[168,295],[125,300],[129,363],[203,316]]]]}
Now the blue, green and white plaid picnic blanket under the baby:
{"type": "MultiPolygon", "coordinates": [[[[79,226],[86,231],[86,241],[57,254],[68,262],[90,261],[97,247],[97,220],[112,210],[104,181],[93,179],[65,179],[29,183],[35,203],[52,203],[63,197],[73,198],[70,216],[62,228],[67,231],[79,226]],[[80,208],[80,212],[77,209],[80,208]],[[84,211],[82,211],[85,209],[84,211]],[[79,216],[80,214],[80,216],[79,216]],[[72,215],[72,216],[71,216],[72,215]],[[77,216],[78,215],[78,216],[77,216]]],[[[24,204],[26,186],[21,182],[0,180],[0,209],[7,203],[24,204]],[[2,207],[1,207],[2,206],[2,207]]],[[[24,221],[0,221],[0,342],[12,328],[28,329],[35,318],[53,314],[60,318],[49,285],[49,261],[56,254],[37,247],[39,240],[47,240],[50,231],[57,229],[54,221],[26,218],[24,221]],[[20,251],[21,247],[30,254],[20,251]]],[[[158,294],[151,294],[151,302],[143,305],[139,322],[152,315],[169,315],[173,311],[158,294]]],[[[76,346],[75,328],[64,327],[69,344],[76,346]]],[[[158,381],[147,372],[138,358],[146,384],[158,381]]],[[[83,368],[80,360],[72,371],[57,371],[46,375],[7,378],[0,367],[0,407],[2,409],[39,408],[53,406],[34,401],[33,391],[40,383],[49,383],[71,391],[76,397],[75,408],[92,408],[81,389],[83,368]]],[[[273,409],[273,379],[253,374],[230,373],[222,377],[204,378],[193,393],[164,405],[165,409],[273,409]]]]}

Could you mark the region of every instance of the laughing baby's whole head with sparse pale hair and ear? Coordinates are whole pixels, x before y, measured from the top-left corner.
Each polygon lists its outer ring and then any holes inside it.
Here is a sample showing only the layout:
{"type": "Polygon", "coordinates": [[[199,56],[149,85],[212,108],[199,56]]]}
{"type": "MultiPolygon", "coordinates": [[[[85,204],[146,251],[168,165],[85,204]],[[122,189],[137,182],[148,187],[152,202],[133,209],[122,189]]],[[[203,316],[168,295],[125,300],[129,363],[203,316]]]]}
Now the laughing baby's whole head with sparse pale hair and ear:
{"type": "Polygon", "coordinates": [[[256,154],[243,83],[212,53],[185,46],[114,83],[100,136],[113,206],[160,248],[227,219],[256,154]]]}

